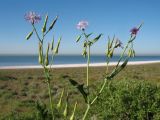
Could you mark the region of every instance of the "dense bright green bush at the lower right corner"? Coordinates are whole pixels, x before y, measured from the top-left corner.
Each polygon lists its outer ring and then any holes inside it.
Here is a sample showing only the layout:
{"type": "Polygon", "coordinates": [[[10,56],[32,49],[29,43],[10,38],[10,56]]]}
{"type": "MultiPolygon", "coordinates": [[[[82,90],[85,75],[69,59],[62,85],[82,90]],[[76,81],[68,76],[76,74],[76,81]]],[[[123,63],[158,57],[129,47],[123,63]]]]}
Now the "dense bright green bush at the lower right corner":
{"type": "Polygon", "coordinates": [[[160,87],[145,81],[116,81],[104,89],[92,112],[105,120],[158,120],[160,87]]]}

